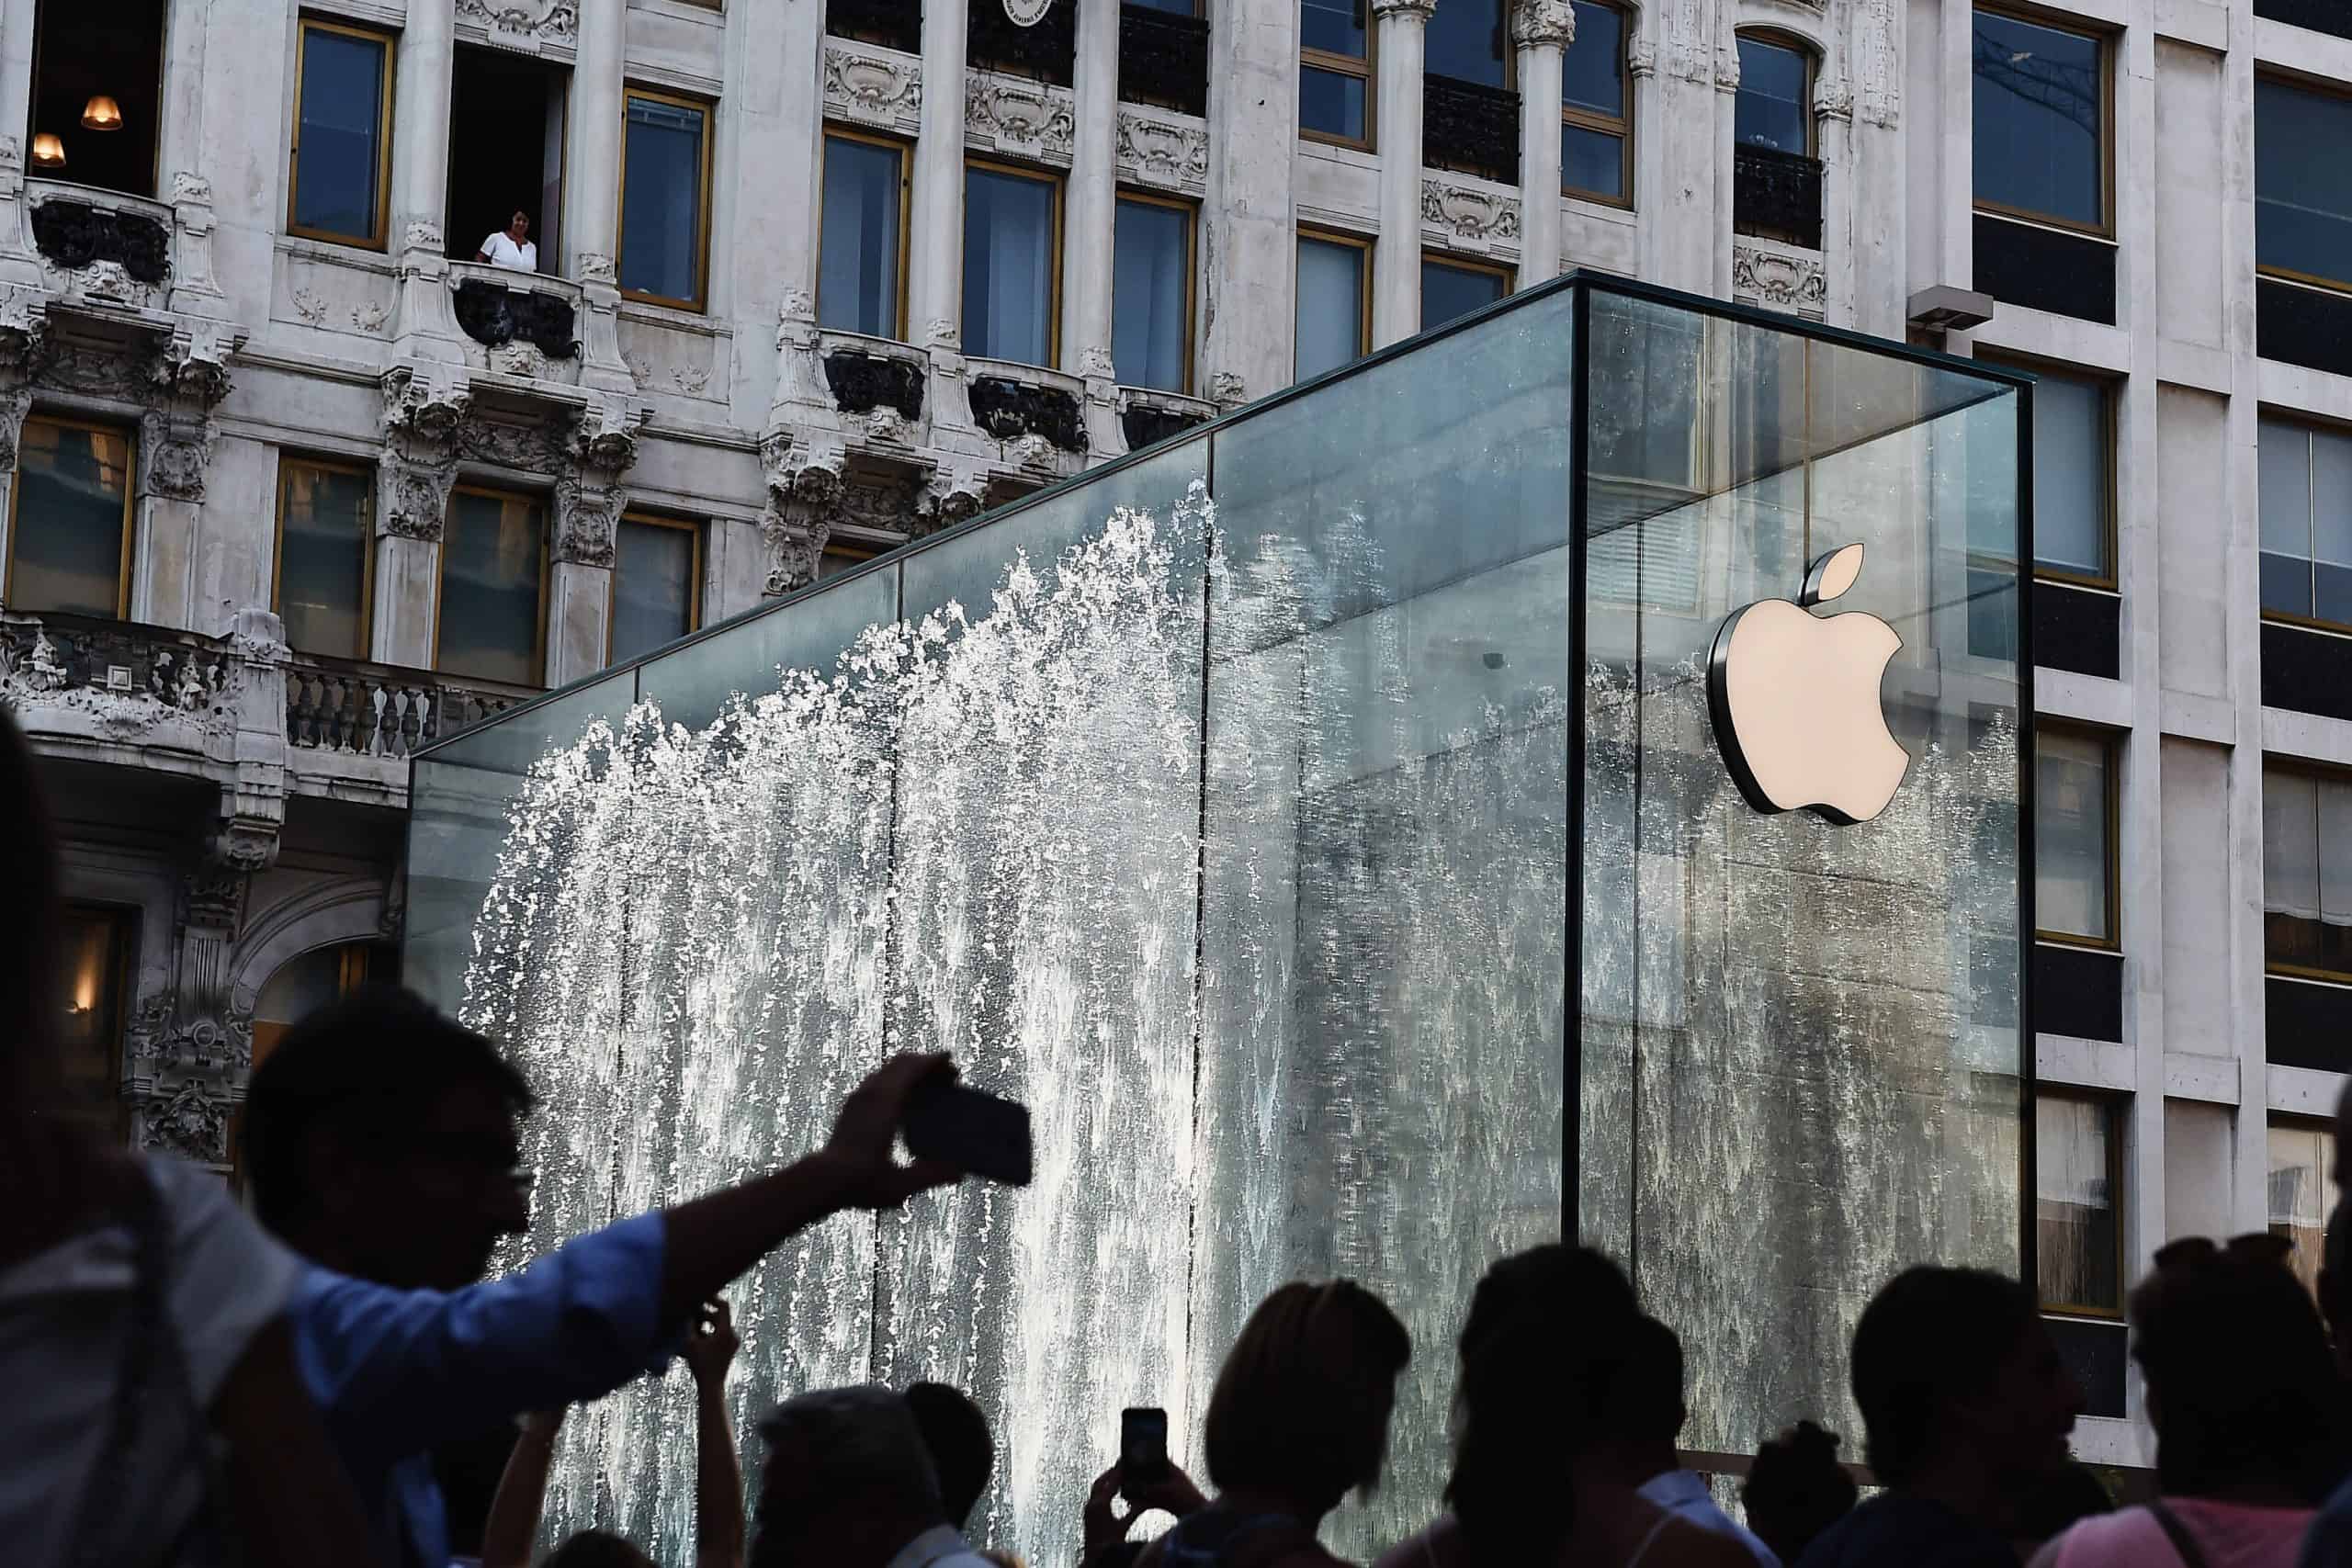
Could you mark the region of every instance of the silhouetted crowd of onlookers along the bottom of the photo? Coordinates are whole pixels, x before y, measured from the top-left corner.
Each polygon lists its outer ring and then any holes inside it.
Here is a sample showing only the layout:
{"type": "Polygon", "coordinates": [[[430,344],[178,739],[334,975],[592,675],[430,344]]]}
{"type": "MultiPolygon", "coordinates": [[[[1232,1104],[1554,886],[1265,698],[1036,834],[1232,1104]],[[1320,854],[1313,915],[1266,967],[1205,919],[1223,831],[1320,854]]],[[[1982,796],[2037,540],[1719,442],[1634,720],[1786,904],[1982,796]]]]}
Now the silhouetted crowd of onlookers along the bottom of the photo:
{"type": "MultiPolygon", "coordinates": [[[[1014,1563],[967,1540],[997,1446],[964,1392],[786,1399],[760,1422],[748,1526],[724,1399],[731,1281],[830,1215],[964,1178],[898,1154],[908,1098],[955,1074],[946,1056],[877,1067],[800,1161],[485,1279],[529,1222],[532,1086],[407,992],[313,1013],[252,1074],[249,1213],[212,1175],[47,1114],[56,858],[5,710],[0,813],[16,823],[0,839],[0,1561],[527,1568],[564,1410],[677,1359],[696,1568],[1014,1563]],[[435,1453],[485,1427],[503,1474],[459,1509],[480,1519],[454,1519],[463,1488],[435,1453]]],[[[2082,1394],[2034,1293],[1952,1267],[1910,1267],[1860,1312],[1856,1450],[1799,1420],[1757,1434],[1745,1476],[1710,1476],[1677,1446],[1675,1326],[1599,1251],[1536,1246],[1465,1305],[1444,1512],[1374,1568],[2352,1568],[2352,1211],[2328,1222],[2317,1307],[2284,1241],[2197,1239],[2154,1253],[2129,1321],[2157,1434],[2154,1495],[2133,1507],[2070,1455],[2082,1394]]],[[[1110,1465],[1082,1568],[1336,1568],[1319,1526],[1381,1483],[1416,1352],[1355,1281],[1272,1291],[1202,1415],[1207,1490],[1171,1462],[1110,1465]]],[[[586,1530],[536,1561],[652,1559],[586,1530]]]]}

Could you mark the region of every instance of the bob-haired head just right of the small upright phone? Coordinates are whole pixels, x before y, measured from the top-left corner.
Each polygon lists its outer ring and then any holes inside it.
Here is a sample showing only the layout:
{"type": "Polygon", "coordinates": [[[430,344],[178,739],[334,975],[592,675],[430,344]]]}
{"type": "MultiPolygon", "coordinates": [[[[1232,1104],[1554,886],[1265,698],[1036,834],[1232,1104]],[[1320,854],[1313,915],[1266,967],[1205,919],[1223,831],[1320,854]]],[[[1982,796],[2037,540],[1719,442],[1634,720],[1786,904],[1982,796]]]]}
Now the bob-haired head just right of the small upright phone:
{"type": "Polygon", "coordinates": [[[1209,1479],[1291,1500],[1312,1519],[1350,1488],[1369,1493],[1411,1354],[1397,1314],[1352,1279],[1282,1286],[1249,1314],[1216,1373],[1209,1479]]]}

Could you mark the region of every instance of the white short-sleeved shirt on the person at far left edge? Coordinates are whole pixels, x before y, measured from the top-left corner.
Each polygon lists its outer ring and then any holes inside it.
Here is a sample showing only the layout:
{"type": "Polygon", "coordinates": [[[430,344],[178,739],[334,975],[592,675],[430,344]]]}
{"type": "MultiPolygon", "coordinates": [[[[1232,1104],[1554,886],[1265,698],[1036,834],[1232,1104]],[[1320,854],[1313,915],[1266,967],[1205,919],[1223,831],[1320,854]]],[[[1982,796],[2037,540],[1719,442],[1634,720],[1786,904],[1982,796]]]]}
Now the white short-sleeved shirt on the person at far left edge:
{"type": "MultiPolygon", "coordinates": [[[[160,1194],[169,1288],[193,1406],[151,1396],[148,1420],[176,1420],[183,1439],[146,1448],[181,1455],[172,1474],[118,1497],[143,1519],[129,1530],[139,1561],[162,1561],[202,1497],[200,1410],[212,1406],[252,1338],[294,1293],[301,1262],[254,1225],[221,1178],[176,1159],[146,1159],[160,1194]]],[[[16,1568],[68,1561],[82,1497],[113,1429],[132,1316],[134,1239],[101,1225],[0,1269],[0,1540],[16,1568]]],[[[160,1436],[160,1434],[153,1434],[160,1436]]]]}

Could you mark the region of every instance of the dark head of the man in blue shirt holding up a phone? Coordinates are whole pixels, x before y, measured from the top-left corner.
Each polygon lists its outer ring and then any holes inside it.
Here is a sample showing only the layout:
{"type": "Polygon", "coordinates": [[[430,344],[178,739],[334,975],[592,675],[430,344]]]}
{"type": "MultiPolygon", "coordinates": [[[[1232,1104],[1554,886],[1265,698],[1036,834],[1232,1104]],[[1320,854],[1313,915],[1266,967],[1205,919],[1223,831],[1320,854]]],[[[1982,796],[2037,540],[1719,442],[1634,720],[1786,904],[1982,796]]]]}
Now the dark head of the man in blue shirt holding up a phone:
{"type": "Polygon", "coordinates": [[[529,1227],[517,1121],[532,1088],[485,1037],[372,985],[294,1025],[245,1095],[261,1222],[294,1251],[456,1291],[529,1227]]]}

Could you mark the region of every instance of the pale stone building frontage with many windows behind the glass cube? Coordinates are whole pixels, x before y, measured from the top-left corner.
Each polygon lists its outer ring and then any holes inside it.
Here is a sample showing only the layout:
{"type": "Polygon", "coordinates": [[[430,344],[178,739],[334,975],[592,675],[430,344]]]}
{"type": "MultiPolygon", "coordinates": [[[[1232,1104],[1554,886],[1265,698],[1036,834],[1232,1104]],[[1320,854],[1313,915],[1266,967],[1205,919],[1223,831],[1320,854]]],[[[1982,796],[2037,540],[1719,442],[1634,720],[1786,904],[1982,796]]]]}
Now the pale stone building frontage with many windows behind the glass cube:
{"type": "Polygon", "coordinates": [[[2352,1065],[2347,143],[2319,0],[7,0],[89,1114],[228,1166],[388,964],[414,745],[1613,270],[2044,376],[2039,1255],[2145,1462],[2124,1281],[2312,1255],[2352,1065]]]}

